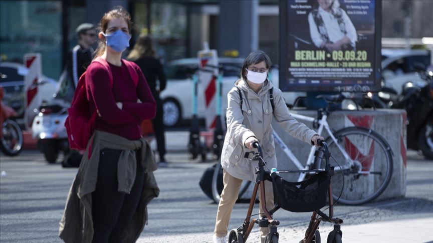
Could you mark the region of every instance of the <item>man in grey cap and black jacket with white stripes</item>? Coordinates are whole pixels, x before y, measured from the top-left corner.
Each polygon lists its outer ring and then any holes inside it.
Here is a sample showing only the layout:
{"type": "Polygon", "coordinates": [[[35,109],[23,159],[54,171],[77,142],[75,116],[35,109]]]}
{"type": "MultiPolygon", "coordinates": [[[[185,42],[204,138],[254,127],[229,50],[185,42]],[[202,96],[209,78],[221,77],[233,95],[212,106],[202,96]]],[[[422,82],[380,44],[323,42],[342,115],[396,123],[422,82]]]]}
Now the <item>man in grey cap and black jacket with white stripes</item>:
{"type": "MultiPolygon", "coordinates": [[[[69,103],[74,96],[78,79],[86,71],[87,66],[93,59],[94,49],[92,44],[96,41],[96,26],[92,23],[82,23],[75,29],[78,44],[68,53],[65,65],[65,73],[60,78],[59,88],[68,90],[65,100],[69,103]],[[68,83],[64,83],[68,82],[68,83]],[[69,87],[71,86],[71,87],[69,87]]],[[[57,95],[57,98],[61,98],[57,95]]],[[[82,159],[82,154],[77,150],[70,150],[65,154],[62,161],[63,167],[78,167],[82,159]]]]}

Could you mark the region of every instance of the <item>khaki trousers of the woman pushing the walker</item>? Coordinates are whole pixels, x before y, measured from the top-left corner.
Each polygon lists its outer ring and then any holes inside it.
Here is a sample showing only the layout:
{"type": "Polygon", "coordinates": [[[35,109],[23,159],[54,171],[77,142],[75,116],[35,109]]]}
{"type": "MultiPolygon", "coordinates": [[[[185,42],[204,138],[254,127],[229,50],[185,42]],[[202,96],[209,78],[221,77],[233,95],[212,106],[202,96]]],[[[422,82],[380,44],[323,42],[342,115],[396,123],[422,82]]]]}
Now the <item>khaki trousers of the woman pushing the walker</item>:
{"type": "MultiPolygon", "coordinates": [[[[232,214],[233,206],[238,199],[239,190],[241,188],[242,179],[238,179],[230,175],[226,170],[223,171],[224,189],[221,194],[220,204],[218,205],[217,220],[215,222],[215,231],[213,232],[218,237],[226,236],[229,227],[230,215],[232,214]]],[[[259,187],[259,200],[262,201],[259,187]]],[[[272,182],[265,181],[265,197],[266,208],[272,209],[274,206],[274,193],[272,191],[272,182]]],[[[260,216],[264,216],[262,207],[259,207],[260,216]]],[[[241,224],[242,222],[239,222],[241,224]]],[[[260,227],[261,240],[264,242],[269,228],[260,227]]]]}

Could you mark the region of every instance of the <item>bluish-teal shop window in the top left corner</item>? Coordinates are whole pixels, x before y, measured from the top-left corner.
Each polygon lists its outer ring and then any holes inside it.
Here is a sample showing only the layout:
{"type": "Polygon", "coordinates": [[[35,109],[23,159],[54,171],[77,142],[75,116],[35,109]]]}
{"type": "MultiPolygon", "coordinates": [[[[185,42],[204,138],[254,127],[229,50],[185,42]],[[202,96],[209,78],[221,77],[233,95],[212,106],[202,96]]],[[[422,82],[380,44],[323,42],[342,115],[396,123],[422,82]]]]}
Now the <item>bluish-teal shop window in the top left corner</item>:
{"type": "Polygon", "coordinates": [[[3,60],[23,63],[25,53],[42,54],[44,75],[58,79],[62,65],[62,1],[2,0],[0,53],[3,60]]]}

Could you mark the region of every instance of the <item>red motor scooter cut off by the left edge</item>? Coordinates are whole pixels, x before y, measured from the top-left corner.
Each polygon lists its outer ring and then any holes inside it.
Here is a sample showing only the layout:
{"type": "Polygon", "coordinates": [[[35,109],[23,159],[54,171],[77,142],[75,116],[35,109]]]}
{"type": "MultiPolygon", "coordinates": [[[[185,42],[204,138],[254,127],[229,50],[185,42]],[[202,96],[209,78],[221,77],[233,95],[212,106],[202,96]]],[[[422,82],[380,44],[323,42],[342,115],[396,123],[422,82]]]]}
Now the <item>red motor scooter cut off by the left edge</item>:
{"type": "Polygon", "coordinates": [[[9,156],[18,155],[23,149],[23,130],[13,120],[17,112],[3,103],[4,89],[0,87],[0,149],[9,156]]]}

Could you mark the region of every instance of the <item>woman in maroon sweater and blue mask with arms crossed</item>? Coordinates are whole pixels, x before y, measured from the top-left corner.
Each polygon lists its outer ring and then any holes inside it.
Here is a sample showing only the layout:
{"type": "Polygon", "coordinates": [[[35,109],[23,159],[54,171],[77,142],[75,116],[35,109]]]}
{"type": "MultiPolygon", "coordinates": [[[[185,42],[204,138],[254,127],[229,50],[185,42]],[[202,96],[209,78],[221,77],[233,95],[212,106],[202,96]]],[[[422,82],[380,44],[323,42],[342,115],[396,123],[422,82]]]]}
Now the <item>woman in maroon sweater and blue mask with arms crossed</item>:
{"type": "Polygon", "coordinates": [[[120,6],[100,21],[101,41],[85,74],[89,111],[98,115],[60,221],[66,242],[135,242],[147,203],[159,193],[153,153],[140,131],[156,103],[140,67],[121,58],[130,29],[120,6]]]}

